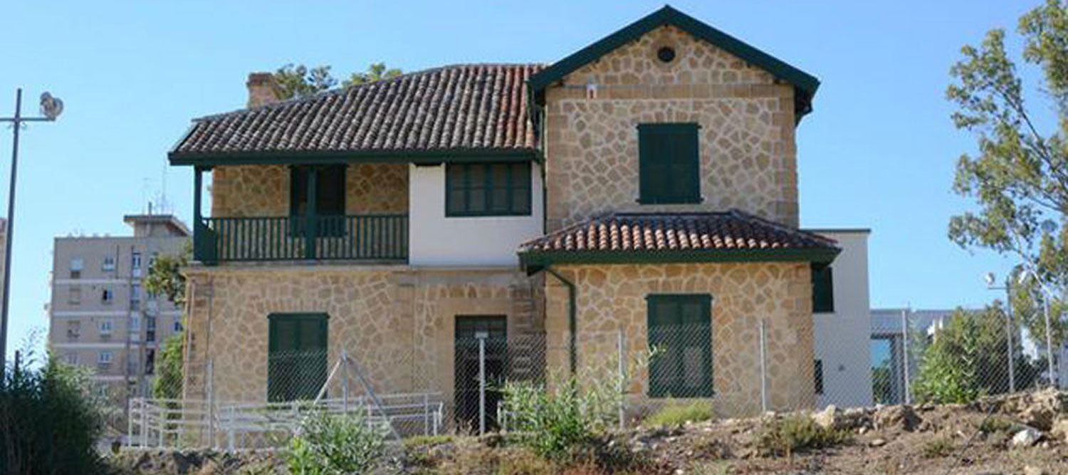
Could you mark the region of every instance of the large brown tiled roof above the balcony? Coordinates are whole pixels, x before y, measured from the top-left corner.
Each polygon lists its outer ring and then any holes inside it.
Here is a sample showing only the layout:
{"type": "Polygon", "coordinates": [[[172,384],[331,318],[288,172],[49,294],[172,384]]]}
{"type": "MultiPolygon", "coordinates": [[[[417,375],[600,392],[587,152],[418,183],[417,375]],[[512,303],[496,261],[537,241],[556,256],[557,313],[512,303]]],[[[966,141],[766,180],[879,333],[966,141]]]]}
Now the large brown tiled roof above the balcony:
{"type": "Polygon", "coordinates": [[[537,64],[444,66],[193,121],[176,157],[255,153],[535,149],[527,80],[537,64]]]}

